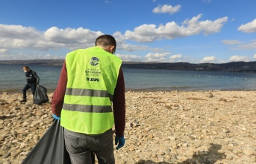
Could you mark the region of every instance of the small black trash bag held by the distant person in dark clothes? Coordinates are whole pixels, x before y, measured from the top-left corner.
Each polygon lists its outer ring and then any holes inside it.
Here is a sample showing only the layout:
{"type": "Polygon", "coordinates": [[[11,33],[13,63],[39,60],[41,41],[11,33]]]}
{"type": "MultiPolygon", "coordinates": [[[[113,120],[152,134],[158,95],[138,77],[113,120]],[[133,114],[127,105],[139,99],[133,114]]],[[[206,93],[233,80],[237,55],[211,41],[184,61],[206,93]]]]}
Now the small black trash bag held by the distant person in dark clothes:
{"type": "Polygon", "coordinates": [[[34,93],[34,103],[41,105],[43,103],[49,102],[49,98],[47,96],[47,89],[42,85],[37,85],[36,91],[34,93]]]}

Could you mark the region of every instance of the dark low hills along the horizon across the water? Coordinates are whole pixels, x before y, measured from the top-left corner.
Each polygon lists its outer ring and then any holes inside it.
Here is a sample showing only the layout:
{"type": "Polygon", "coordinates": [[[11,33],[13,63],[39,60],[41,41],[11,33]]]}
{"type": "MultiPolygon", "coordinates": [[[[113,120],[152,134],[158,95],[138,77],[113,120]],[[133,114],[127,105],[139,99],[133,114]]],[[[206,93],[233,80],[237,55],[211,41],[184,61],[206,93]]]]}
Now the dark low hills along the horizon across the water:
{"type": "MultiPolygon", "coordinates": [[[[21,65],[62,65],[64,59],[1,60],[0,64],[21,65]]],[[[163,70],[205,70],[256,73],[256,62],[228,62],[222,64],[188,62],[122,62],[122,68],[163,69],[163,70]]]]}

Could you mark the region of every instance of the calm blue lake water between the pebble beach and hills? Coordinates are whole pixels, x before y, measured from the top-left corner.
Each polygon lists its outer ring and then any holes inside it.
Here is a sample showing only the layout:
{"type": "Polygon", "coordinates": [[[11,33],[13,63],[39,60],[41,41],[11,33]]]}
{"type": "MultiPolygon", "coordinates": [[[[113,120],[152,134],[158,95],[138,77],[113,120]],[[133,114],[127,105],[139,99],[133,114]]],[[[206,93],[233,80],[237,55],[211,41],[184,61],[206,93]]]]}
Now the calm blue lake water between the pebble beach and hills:
{"type": "MultiPolygon", "coordinates": [[[[54,91],[60,65],[28,65],[40,76],[40,85],[54,91]]],[[[0,65],[0,91],[22,91],[23,65],[0,65]]],[[[125,89],[134,91],[255,91],[256,73],[123,68],[125,89]]]]}

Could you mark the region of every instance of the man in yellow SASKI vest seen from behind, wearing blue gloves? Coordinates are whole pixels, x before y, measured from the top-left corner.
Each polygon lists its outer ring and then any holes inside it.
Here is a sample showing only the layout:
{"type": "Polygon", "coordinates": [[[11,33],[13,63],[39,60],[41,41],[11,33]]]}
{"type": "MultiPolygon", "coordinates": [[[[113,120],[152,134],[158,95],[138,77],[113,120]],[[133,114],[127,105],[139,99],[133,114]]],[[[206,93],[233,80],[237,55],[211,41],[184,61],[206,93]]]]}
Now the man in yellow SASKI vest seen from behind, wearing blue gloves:
{"type": "Polygon", "coordinates": [[[115,163],[113,125],[116,150],[125,145],[125,82],[115,50],[113,36],[102,35],[95,47],[66,55],[51,111],[64,128],[72,164],[92,163],[93,153],[99,164],[115,163]]]}

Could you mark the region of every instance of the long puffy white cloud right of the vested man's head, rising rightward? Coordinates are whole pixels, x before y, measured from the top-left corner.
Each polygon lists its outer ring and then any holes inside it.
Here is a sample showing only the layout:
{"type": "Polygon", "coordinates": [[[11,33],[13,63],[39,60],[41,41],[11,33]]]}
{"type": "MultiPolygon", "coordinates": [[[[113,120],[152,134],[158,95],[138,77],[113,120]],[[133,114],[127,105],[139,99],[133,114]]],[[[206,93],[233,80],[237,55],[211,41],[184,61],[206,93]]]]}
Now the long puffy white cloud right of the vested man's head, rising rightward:
{"type": "Polygon", "coordinates": [[[228,17],[216,19],[215,21],[202,21],[199,16],[192,19],[185,20],[181,26],[175,22],[168,22],[165,25],[157,27],[155,24],[143,24],[139,27],[135,27],[134,31],[127,30],[124,34],[125,39],[130,39],[136,42],[154,42],[154,40],[161,39],[175,39],[184,36],[193,36],[199,33],[205,35],[211,33],[218,33],[223,24],[227,22],[228,17]]]}

